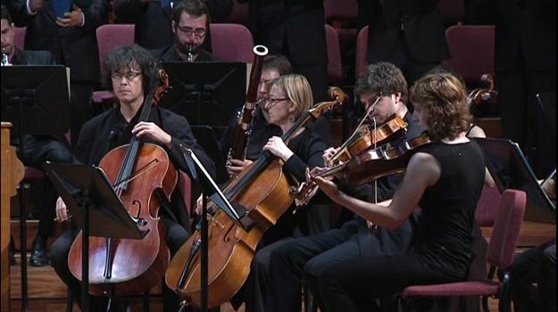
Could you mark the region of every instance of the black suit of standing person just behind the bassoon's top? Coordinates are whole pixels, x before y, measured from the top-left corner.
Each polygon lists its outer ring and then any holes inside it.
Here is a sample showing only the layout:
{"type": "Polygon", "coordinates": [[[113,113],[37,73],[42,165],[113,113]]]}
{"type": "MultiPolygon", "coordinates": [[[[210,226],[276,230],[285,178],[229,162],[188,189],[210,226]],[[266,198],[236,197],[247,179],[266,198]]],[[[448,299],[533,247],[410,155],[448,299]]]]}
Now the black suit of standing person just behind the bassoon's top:
{"type": "Polygon", "coordinates": [[[294,65],[328,63],[323,0],[238,0],[248,3],[255,42],[294,65]],[[284,50],[287,49],[287,51],[284,50]]]}

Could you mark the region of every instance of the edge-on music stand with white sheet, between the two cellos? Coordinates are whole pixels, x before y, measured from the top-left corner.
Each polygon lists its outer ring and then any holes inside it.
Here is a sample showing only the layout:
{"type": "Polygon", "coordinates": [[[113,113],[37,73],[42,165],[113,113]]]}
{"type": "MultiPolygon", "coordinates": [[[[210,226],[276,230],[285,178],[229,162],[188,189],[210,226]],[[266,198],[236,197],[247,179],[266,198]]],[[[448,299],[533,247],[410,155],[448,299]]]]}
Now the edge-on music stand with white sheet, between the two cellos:
{"type": "MultiPolygon", "coordinates": [[[[208,300],[207,300],[207,283],[208,283],[207,197],[210,197],[212,201],[229,216],[229,218],[234,220],[238,226],[241,226],[245,230],[247,229],[247,226],[242,223],[241,219],[246,216],[247,211],[243,211],[241,214],[239,214],[237,210],[232,207],[227,197],[221,192],[219,186],[215,184],[215,181],[213,181],[212,177],[204,168],[202,162],[197,159],[196,154],[182,144],[180,144],[180,148],[184,153],[184,159],[186,160],[187,167],[188,170],[190,171],[192,179],[196,180],[196,182],[202,187],[202,218],[200,219],[200,229],[199,229],[200,240],[201,240],[201,253],[202,253],[201,261],[200,261],[201,262],[200,280],[201,280],[201,302],[202,302],[201,310],[203,312],[206,312],[207,305],[208,305],[208,300]],[[209,194],[209,196],[207,196],[207,194],[209,194]]],[[[195,246],[193,246],[192,248],[195,248],[195,246]]],[[[181,277],[180,280],[182,280],[183,277],[181,277]]]]}

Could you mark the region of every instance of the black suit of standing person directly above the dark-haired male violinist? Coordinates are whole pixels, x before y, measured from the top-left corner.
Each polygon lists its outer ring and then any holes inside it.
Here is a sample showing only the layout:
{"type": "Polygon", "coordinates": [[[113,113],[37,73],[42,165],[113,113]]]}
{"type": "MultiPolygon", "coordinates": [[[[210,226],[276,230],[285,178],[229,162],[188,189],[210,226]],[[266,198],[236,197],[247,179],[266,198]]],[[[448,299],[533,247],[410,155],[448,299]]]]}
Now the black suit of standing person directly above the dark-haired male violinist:
{"type": "Polygon", "coordinates": [[[389,61],[406,43],[415,62],[449,58],[439,0],[373,0],[368,32],[368,62],[389,61]]]}

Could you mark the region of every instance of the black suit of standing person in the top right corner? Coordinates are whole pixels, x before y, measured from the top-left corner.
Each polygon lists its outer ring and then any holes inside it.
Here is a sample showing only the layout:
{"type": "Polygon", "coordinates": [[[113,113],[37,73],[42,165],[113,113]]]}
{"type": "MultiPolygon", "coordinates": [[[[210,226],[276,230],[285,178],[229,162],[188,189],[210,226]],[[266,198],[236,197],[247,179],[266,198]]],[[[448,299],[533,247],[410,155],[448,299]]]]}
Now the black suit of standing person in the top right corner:
{"type": "Polygon", "coordinates": [[[556,1],[495,0],[496,70],[556,70],[556,1]]]}

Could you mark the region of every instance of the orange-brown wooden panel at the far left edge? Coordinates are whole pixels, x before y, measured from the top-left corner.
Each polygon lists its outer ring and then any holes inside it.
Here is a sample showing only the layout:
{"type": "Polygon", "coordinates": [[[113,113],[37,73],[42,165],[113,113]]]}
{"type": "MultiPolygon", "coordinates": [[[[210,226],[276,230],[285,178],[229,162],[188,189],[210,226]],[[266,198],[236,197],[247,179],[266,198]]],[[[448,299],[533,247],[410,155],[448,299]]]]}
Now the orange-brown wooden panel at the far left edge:
{"type": "Polygon", "coordinates": [[[10,145],[10,128],[12,124],[8,122],[2,123],[2,206],[0,216],[0,266],[2,271],[2,306],[1,311],[9,311],[9,295],[10,295],[10,275],[9,275],[9,250],[10,250],[10,197],[15,195],[15,185],[20,183],[23,178],[23,165],[17,159],[15,149],[10,145]],[[5,302],[5,304],[4,304],[5,302]]]}

